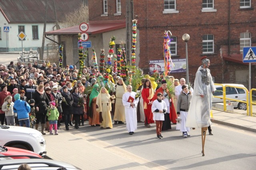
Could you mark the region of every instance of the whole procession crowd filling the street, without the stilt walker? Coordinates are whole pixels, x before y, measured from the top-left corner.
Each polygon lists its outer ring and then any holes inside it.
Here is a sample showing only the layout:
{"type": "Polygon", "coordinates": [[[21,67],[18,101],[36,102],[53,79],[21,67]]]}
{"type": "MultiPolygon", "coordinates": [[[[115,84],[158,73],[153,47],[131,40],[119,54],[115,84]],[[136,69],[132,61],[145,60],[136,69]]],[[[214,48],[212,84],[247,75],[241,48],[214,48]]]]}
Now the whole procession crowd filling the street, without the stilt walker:
{"type": "Polygon", "coordinates": [[[61,121],[66,130],[73,123],[78,129],[87,120],[91,127],[101,129],[112,129],[113,125],[126,122],[126,129],[132,135],[138,122],[144,122],[148,128],[156,123],[156,135],[161,139],[162,131],[171,129],[171,122],[177,122],[178,113],[183,120],[182,136],[190,136],[186,119],[193,88],[186,85],[184,78],[166,76],[154,80],[146,75],[132,91],[134,87],[126,85],[113,72],[108,75],[108,83],[115,90],[110,91],[101,85],[106,83],[105,73],[91,66],[84,66],[81,76],[78,72],[75,65],[60,68],[42,63],[38,66],[36,61],[27,66],[19,62],[0,64],[1,124],[32,127],[34,123],[36,130],[40,124],[43,135],[46,131],[58,135],[61,121]],[[175,95],[168,90],[166,81],[171,82],[175,95]]]}

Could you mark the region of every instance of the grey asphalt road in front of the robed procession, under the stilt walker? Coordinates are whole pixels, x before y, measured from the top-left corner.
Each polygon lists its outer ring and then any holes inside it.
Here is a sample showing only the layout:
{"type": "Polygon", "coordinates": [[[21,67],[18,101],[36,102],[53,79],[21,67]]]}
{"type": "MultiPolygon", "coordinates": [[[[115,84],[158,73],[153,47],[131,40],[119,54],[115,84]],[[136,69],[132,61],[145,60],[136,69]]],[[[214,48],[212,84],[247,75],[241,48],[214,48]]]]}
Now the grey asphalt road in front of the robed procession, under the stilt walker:
{"type": "MultiPolygon", "coordinates": [[[[146,128],[144,123],[138,123],[138,130],[133,135],[128,134],[125,124],[103,130],[90,127],[87,123],[86,125],[74,132],[76,137],[87,138],[96,147],[104,146],[117,154],[135,155],[134,162],[142,159],[152,162],[153,164],[147,164],[152,166],[151,169],[154,169],[154,164],[172,170],[255,169],[256,133],[241,129],[212,125],[214,135],[207,133],[205,156],[202,156],[201,129],[191,130],[191,136],[183,138],[182,133],[175,130],[176,125],[172,125],[171,130],[162,132],[164,138],[156,139],[155,125],[146,128]]],[[[81,149],[79,155],[83,154],[86,151],[81,149]]]]}

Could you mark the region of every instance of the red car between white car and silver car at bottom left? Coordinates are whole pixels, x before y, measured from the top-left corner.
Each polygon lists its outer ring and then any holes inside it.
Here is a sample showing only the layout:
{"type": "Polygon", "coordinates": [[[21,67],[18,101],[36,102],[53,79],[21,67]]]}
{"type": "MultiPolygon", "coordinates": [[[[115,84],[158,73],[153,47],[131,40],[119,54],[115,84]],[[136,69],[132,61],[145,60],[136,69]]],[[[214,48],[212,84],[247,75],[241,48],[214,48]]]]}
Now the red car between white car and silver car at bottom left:
{"type": "Polygon", "coordinates": [[[24,158],[42,158],[39,154],[25,150],[25,149],[18,149],[13,147],[2,147],[0,146],[0,154],[4,156],[11,156],[14,159],[24,159],[24,158]]]}

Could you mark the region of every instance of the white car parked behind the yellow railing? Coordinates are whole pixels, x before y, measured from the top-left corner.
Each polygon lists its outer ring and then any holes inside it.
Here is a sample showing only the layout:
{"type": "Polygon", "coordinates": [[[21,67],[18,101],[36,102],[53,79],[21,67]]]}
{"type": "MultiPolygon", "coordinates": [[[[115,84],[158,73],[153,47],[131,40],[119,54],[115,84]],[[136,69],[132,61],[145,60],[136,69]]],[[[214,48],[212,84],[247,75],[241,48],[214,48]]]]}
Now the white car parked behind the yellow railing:
{"type": "MultiPolygon", "coordinates": [[[[244,85],[242,84],[222,84],[224,86],[229,85],[229,86],[238,86],[238,87],[243,87],[244,85]]],[[[216,91],[214,92],[213,96],[219,96],[219,97],[223,97],[223,88],[220,85],[216,85],[214,84],[214,86],[216,87],[216,91]]],[[[229,87],[226,86],[226,98],[232,98],[232,99],[236,99],[236,100],[242,100],[242,101],[246,101],[246,90],[242,89],[242,88],[234,88],[234,87],[229,87]]],[[[227,100],[228,102],[228,100],[227,100]]],[[[232,101],[230,100],[230,102],[233,102],[234,104],[234,108],[238,108],[241,110],[246,110],[247,109],[247,105],[246,103],[242,103],[242,102],[236,102],[236,101],[232,101]]],[[[212,99],[212,104],[216,104],[216,103],[223,103],[223,98],[213,98],[212,99]]]]}

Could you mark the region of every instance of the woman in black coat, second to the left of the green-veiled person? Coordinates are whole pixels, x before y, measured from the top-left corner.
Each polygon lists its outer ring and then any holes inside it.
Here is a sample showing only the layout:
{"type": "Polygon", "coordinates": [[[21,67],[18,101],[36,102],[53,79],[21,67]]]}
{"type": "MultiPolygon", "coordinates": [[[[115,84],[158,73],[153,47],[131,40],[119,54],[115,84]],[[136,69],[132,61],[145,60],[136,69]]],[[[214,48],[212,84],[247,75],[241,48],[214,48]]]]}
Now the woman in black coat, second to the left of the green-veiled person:
{"type": "Polygon", "coordinates": [[[74,102],[74,99],[72,97],[72,94],[68,91],[68,87],[67,86],[63,86],[62,88],[62,96],[63,96],[63,100],[61,103],[61,107],[62,107],[62,113],[64,114],[64,119],[65,119],[65,126],[66,126],[66,130],[68,131],[68,123],[70,121],[70,114],[72,114],[73,112],[73,107],[72,104],[74,102]]]}

